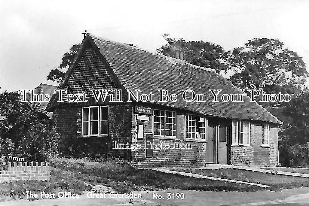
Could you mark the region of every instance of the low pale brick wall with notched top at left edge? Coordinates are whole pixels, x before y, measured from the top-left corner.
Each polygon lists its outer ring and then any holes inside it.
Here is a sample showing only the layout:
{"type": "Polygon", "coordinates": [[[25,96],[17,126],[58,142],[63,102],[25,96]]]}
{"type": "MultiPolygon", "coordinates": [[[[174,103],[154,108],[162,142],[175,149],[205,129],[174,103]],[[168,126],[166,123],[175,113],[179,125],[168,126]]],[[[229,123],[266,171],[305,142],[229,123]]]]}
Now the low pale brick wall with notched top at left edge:
{"type": "Polygon", "coordinates": [[[7,166],[7,170],[0,170],[0,182],[26,179],[49,180],[50,178],[48,162],[8,162],[3,164],[7,166]]]}

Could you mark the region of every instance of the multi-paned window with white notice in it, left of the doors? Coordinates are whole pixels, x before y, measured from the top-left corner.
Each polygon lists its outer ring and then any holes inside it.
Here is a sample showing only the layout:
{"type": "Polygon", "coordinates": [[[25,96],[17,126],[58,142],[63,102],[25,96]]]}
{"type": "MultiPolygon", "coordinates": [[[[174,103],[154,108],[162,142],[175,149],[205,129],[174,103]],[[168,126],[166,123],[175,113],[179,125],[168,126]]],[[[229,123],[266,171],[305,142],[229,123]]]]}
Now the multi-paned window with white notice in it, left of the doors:
{"type": "Polygon", "coordinates": [[[198,115],[186,115],[185,138],[191,140],[205,140],[206,120],[198,115]]]}

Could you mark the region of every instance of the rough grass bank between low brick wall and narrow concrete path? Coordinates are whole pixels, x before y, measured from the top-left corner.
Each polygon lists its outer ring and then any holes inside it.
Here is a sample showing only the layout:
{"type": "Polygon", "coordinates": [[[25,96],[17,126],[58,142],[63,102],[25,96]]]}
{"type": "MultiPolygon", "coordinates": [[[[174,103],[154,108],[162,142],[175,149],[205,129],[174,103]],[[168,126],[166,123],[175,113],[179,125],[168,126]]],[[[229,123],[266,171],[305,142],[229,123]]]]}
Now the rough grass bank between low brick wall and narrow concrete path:
{"type": "Polygon", "coordinates": [[[151,189],[187,189],[206,191],[257,191],[260,187],[244,184],[219,182],[207,179],[166,174],[154,170],[138,170],[127,162],[94,162],[86,159],[57,158],[51,166],[70,171],[74,178],[90,183],[103,183],[116,191],[130,192],[141,187],[151,189]]]}

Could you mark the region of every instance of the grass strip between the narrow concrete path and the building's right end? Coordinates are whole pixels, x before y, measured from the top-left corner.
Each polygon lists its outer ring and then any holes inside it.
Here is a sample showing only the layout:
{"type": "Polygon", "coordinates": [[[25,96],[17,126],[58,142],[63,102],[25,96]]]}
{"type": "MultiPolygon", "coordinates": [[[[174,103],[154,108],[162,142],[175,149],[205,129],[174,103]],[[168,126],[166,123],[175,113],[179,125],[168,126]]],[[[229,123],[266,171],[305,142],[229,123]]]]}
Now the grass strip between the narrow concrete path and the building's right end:
{"type": "Polygon", "coordinates": [[[183,170],[205,176],[218,177],[223,179],[240,180],[250,183],[259,183],[271,186],[270,190],[291,189],[295,187],[309,187],[309,178],[293,177],[279,174],[268,174],[262,172],[238,170],[238,169],[218,169],[218,170],[183,170]]]}

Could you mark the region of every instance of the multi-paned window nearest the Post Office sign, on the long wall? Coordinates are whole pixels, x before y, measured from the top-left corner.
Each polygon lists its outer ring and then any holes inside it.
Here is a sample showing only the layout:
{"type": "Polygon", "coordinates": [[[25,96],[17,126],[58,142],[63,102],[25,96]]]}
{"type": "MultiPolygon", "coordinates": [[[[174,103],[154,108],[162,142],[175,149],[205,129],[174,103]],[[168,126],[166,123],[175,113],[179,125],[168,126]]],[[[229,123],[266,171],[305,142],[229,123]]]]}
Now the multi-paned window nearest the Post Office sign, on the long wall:
{"type": "Polygon", "coordinates": [[[154,135],[176,137],[176,112],[154,110],[154,135]]]}

